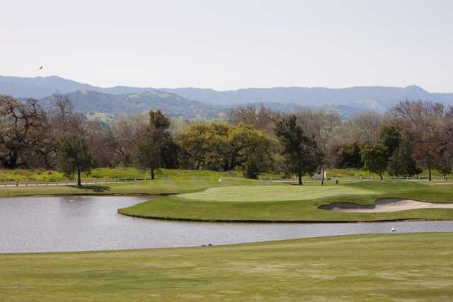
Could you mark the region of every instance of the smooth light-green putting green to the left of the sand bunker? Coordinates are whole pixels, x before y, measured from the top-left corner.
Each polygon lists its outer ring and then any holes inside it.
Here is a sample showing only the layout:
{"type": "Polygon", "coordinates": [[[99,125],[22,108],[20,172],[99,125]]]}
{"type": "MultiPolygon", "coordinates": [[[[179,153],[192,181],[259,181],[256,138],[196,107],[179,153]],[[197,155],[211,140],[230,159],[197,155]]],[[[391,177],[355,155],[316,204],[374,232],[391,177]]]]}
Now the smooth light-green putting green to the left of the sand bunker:
{"type": "Polygon", "coordinates": [[[200,201],[216,202],[276,202],[290,200],[309,200],[339,195],[374,194],[372,190],[345,186],[231,186],[210,187],[203,192],[180,194],[178,197],[200,201]]]}

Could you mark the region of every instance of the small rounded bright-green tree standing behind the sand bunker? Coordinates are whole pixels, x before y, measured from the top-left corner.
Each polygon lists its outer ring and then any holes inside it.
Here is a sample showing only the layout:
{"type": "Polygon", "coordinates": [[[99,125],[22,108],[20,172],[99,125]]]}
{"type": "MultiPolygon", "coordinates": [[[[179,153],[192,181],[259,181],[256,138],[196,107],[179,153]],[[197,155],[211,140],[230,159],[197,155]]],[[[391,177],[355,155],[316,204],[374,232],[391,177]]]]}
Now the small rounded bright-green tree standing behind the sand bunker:
{"type": "Polygon", "coordinates": [[[381,180],[384,180],[382,173],[387,167],[388,154],[389,150],[382,144],[366,144],[360,151],[365,170],[379,174],[381,180]]]}

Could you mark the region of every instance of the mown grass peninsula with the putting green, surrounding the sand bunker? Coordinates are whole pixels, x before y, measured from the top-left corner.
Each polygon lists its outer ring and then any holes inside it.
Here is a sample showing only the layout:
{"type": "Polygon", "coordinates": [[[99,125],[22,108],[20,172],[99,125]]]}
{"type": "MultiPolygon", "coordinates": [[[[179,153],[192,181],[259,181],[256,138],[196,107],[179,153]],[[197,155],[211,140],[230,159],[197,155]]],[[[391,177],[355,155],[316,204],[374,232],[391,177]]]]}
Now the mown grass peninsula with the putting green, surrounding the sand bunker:
{"type": "Polygon", "coordinates": [[[331,202],[372,204],[397,197],[427,202],[453,202],[453,185],[420,182],[354,182],[343,185],[275,185],[216,187],[190,194],[156,197],[120,209],[144,218],[202,221],[385,221],[452,220],[453,209],[413,209],[386,213],[346,213],[318,209],[331,202]]]}

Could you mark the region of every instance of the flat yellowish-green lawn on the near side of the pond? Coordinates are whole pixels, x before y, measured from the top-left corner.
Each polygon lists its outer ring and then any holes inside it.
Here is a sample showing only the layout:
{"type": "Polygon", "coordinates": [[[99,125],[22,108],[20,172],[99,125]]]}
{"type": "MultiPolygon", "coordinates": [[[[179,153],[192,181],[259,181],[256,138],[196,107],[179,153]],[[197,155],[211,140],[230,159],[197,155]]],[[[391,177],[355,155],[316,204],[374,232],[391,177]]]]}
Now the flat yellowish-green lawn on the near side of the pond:
{"type": "Polygon", "coordinates": [[[453,233],[0,255],[1,301],[452,301],[453,233]]]}

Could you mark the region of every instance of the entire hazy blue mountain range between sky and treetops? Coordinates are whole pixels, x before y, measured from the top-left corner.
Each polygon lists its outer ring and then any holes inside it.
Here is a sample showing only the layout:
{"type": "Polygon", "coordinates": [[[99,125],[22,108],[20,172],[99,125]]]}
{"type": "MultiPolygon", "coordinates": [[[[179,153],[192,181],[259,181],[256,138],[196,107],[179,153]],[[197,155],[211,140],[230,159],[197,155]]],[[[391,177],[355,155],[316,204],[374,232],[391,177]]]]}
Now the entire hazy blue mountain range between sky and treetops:
{"type": "Polygon", "coordinates": [[[16,98],[41,99],[48,105],[49,96],[61,93],[73,101],[80,112],[121,113],[161,109],[164,113],[184,118],[212,119],[238,105],[259,105],[282,112],[302,107],[337,110],[345,119],[365,110],[384,112],[401,100],[431,100],[453,104],[453,93],[430,93],[419,86],[306,88],[245,88],[214,91],[205,88],[139,88],[115,86],[101,88],[59,76],[24,78],[0,76],[0,94],[16,98]]]}

